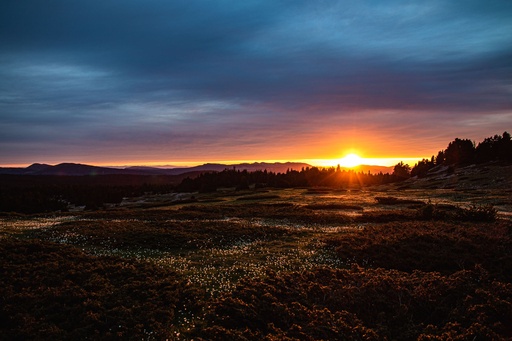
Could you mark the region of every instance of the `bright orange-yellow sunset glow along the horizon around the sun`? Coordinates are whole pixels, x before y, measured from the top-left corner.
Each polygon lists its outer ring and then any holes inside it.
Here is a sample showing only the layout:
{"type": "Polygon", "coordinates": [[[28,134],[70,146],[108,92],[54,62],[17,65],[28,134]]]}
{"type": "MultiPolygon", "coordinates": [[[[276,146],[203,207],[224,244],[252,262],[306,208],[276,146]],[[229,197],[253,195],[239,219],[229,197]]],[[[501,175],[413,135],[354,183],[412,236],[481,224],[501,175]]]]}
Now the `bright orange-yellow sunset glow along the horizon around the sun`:
{"type": "MultiPolygon", "coordinates": [[[[356,117],[356,115],[354,116],[356,117]]],[[[37,158],[28,158],[24,163],[10,162],[0,167],[26,167],[31,163],[58,164],[62,162],[83,163],[96,166],[150,166],[150,167],[191,167],[205,163],[238,164],[254,162],[304,162],[316,167],[342,167],[356,168],[356,164],[365,166],[394,166],[400,161],[411,167],[423,158],[430,158],[437,150],[442,149],[444,143],[433,140],[422,140],[422,143],[404,143],[397,139],[400,132],[384,133],[371,126],[352,128],[340,127],[339,124],[321,126],[312,130],[300,139],[277,140],[244,146],[240,153],[239,146],[232,143],[227,146],[214,146],[199,148],[191,146],[190,151],[182,152],[180,149],[169,155],[169,150],[161,150],[155,146],[148,151],[143,146],[133,146],[131,149],[123,148],[99,151],[97,153],[67,153],[59,156],[40,155],[37,158]],[[320,131],[321,128],[321,131],[320,131]],[[270,143],[272,142],[272,143],[270,143]],[[428,142],[428,143],[426,143],[428,142]],[[418,146],[421,146],[419,148],[418,146]],[[359,156],[359,159],[348,154],[359,156]],[[350,160],[352,159],[352,160],[350,160]]],[[[128,148],[128,147],[126,147],[128,148]]]]}

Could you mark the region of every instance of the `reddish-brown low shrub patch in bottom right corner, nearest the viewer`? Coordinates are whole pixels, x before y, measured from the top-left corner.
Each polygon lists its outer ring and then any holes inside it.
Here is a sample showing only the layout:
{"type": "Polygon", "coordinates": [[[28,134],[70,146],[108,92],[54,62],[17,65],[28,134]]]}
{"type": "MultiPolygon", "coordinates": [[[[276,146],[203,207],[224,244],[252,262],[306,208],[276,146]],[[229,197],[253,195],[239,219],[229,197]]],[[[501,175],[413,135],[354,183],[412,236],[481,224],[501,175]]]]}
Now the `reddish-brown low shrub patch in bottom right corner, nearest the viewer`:
{"type": "Polygon", "coordinates": [[[461,340],[512,337],[512,286],[475,268],[449,276],[319,268],[245,280],[194,339],[461,340]]]}

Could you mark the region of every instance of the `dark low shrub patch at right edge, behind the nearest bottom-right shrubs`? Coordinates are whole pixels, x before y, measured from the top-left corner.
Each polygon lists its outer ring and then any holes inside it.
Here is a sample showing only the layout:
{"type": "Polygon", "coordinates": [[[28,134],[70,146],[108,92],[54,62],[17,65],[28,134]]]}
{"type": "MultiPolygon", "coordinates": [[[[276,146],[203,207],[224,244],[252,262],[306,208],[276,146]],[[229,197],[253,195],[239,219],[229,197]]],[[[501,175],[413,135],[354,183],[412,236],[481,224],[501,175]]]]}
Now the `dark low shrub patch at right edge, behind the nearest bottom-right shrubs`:
{"type": "Polygon", "coordinates": [[[490,275],[512,280],[512,224],[394,222],[349,229],[324,238],[340,257],[361,265],[439,271],[450,274],[483,266],[490,275]]]}

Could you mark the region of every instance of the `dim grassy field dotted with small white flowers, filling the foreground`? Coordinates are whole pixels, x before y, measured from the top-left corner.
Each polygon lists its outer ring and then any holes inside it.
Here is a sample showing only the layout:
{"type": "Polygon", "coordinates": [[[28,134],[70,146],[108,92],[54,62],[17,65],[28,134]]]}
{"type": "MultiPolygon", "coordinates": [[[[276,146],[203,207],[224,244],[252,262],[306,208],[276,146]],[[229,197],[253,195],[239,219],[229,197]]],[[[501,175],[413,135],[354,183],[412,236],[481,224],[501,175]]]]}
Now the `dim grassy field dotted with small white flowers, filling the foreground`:
{"type": "Polygon", "coordinates": [[[505,191],[161,198],[1,217],[2,338],[512,338],[505,191]]]}

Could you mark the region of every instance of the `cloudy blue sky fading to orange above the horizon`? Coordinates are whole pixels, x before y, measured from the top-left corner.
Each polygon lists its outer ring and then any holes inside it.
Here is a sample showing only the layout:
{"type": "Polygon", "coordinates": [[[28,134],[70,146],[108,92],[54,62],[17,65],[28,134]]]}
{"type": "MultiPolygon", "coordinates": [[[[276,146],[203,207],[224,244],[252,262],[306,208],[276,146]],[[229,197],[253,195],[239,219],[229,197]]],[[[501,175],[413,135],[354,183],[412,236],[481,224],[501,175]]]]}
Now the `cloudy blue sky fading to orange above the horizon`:
{"type": "Polygon", "coordinates": [[[511,18],[506,0],[2,0],[0,166],[430,157],[512,131],[511,18]]]}

